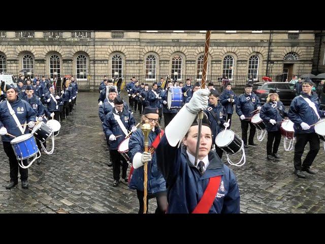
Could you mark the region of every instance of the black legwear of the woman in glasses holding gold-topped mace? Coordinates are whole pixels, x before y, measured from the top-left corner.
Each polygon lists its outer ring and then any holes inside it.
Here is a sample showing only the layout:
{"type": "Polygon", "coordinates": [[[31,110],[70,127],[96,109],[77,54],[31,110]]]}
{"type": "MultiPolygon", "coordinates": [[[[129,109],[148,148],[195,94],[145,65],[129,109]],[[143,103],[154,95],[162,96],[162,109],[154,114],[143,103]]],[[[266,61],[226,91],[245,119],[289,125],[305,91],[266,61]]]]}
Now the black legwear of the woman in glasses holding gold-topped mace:
{"type": "MultiPolygon", "coordinates": [[[[144,204],[143,204],[143,196],[144,196],[144,192],[142,191],[138,191],[137,190],[137,197],[139,200],[139,214],[143,214],[143,208],[144,208],[144,204]]],[[[155,194],[147,194],[147,211],[146,213],[148,214],[148,202],[149,199],[151,198],[156,198],[157,201],[157,208],[155,210],[155,214],[165,214],[166,210],[167,210],[167,191],[166,192],[157,192],[155,194]]]]}

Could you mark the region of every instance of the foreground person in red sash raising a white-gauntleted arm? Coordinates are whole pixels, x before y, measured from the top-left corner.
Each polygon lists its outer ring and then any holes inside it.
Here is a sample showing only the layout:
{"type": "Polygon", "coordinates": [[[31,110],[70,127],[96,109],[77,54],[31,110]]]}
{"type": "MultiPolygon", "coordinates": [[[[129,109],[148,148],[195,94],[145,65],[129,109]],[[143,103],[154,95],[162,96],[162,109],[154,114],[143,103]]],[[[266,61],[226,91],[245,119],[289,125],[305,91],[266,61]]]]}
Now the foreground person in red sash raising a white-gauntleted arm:
{"type": "MultiPolygon", "coordinates": [[[[236,177],[211,150],[212,133],[206,116],[202,121],[198,162],[194,162],[198,137],[196,117],[199,111],[207,109],[209,93],[200,89],[193,94],[167,126],[156,149],[158,169],[168,189],[167,212],[171,214],[240,212],[236,177]],[[179,147],[181,142],[184,146],[179,147]]],[[[146,156],[144,160],[151,160],[146,156]]]]}

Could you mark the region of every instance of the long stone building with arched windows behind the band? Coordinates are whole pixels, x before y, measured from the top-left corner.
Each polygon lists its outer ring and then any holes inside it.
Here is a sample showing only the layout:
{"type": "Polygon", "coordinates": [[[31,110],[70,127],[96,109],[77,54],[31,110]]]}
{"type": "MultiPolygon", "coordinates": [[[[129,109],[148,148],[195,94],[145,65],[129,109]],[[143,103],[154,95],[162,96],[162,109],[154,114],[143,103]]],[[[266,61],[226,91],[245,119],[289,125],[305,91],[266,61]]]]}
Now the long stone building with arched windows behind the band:
{"type": "MultiPolygon", "coordinates": [[[[0,71],[72,74],[85,89],[98,87],[104,75],[200,80],[204,41],[205,31],[0,31],[0,71]]],[[[212,31],[208,79],[310,73],[314,46],[314,31],[212,31]]]]}

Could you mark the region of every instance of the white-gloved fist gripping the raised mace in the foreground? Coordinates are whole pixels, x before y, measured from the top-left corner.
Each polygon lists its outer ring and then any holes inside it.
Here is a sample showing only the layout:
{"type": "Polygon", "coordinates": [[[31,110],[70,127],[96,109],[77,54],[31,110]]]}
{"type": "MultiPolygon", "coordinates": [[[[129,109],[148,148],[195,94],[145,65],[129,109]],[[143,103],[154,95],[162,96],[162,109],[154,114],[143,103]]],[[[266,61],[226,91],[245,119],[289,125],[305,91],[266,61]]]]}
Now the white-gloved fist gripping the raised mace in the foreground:
{"type": "Polygon", "coordinates": [[[201,110],[206,110],[208,107],[209,102],[209,90],[206,89],[199,89],[197,92],[193,93],[193,96],[189,103],[187,104],[187,110],[192,113],[196,114],[201,110]]]}

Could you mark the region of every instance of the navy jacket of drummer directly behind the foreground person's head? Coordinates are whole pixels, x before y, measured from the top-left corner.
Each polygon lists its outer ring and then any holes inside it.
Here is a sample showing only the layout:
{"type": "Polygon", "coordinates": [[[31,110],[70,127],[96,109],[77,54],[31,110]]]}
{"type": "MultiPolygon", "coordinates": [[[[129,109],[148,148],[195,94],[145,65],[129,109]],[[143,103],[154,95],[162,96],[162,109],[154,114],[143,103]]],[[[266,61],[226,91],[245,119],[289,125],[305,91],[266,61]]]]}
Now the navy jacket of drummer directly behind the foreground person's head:
{"type": "Polygon", "coordinates": [[[219,134],[221,129],[224,129],[223,123],[225,123],[225,116],[227,115],[227,113],[221,103],[218,103],[216,107],[209,104],[208,108],[205,110],[205,113],[208,115],[211,125],[212,142],[215,143],[215,137],[219,134]],[[215,120],[214,116],[212,115],[211,109],[214,111],[215,115],[217,116],[217,119],[220,121],[219,123],[217,122],[217,120],[215,120]]]}

